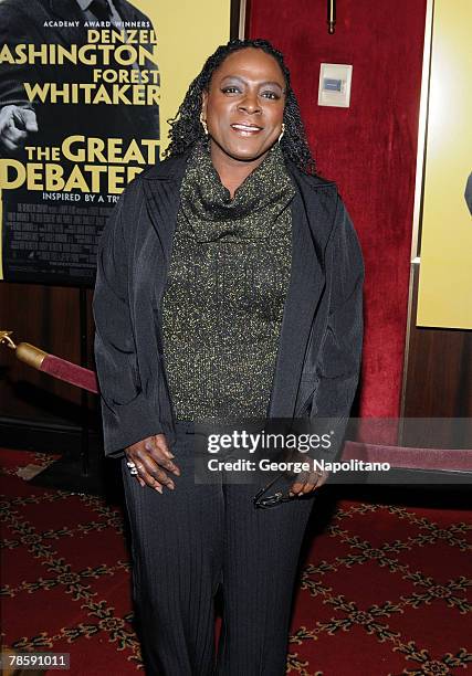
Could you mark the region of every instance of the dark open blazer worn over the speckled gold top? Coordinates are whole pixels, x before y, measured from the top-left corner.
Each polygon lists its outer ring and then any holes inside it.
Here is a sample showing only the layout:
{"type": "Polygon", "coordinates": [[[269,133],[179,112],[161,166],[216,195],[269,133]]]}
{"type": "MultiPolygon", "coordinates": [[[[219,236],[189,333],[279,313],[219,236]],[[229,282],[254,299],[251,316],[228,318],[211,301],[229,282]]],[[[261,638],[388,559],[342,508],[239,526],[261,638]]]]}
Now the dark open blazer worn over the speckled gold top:
{"type": "MultiPolygon", "coordinates": [[[[139,175],[102,235],[93,300],[105,453],[153,434],[175,440],[162,363],[160,302],[187,155],[139,175]]],[[[364,265],[335,183],[287,169],[292,275],[270,400],[272,418],[349,414],[363,339],[364,265]]]]}

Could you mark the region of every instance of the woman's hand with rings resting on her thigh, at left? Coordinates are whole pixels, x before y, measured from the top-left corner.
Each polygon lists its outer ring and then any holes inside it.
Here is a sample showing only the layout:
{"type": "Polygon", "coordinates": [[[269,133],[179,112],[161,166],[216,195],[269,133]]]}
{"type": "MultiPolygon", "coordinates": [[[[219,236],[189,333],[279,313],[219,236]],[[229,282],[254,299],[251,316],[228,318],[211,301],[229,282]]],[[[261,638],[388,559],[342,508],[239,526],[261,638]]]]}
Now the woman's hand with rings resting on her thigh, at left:
{"type": "Polygon", "coordinates": [[[164,469],[176,476],[180,476],[180,469],[171,461],[175,455],[169,451],[165,434],[143,439],[125,448],[125,455],[128,462],[135,464],[136,478],[143,487],[147,485],[162,493],[164,485],[174,490],[175,484],[164,469]]]}

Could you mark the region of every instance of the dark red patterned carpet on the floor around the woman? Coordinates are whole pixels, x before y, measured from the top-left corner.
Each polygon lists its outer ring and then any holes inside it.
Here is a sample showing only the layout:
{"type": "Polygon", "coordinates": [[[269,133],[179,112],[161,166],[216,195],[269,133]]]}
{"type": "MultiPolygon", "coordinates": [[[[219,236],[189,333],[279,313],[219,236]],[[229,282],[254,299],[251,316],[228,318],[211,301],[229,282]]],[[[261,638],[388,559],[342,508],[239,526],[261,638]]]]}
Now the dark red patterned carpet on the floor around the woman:
{"type": "MultiPolygon", "coordinates": [[[[143,673],[119,508],[18,475],[51,456],[0,462],[3,646],[70,653],[73,676],[143,673]]],[[[287,674],[465,674],[472,513],[332,496],[303,551],[287,674]]]]}

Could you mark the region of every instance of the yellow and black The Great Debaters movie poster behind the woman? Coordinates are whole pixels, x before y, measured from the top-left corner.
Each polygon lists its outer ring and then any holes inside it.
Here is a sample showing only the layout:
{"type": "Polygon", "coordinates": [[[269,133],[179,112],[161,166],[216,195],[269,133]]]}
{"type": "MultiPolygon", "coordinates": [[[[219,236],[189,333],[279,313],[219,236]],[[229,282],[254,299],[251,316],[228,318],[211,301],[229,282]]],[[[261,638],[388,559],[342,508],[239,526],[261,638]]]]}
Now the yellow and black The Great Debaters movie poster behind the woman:
{"type": "Polygon", "coordinates": [[[170,92],[228,40],[229,17],[229,0],[0,1],[0,278],[93,284],[113,205],[159,161],[170,92]]]}

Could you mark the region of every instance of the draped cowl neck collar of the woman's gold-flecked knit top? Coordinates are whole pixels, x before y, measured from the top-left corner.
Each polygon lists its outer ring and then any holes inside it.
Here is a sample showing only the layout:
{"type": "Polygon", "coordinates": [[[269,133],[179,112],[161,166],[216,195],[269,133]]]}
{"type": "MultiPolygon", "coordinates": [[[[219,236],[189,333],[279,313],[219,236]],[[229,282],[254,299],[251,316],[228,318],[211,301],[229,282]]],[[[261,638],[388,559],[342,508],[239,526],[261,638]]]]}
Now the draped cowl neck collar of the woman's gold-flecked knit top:
{"type": "Polygon", "coordinates": [[[198,142],[188,159],[180,208],[188,234],[198,242],[243,242],[269,237],[294,196],[279,144],[231,199],[211,162],[208,144],[198,142]]]}

